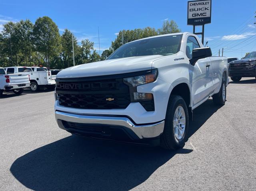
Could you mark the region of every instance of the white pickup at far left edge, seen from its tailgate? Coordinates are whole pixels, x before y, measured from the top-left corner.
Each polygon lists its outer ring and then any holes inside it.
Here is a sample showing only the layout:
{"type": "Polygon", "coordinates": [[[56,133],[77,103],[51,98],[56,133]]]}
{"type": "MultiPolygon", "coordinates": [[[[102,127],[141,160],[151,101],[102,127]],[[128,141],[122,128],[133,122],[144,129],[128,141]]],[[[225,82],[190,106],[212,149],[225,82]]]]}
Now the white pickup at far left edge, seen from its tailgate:
{"type": "Polygon", "coordinates": [[[15,94],[22,94],[24,88],[30,87],[28,74],[9,74],[4,68],[0,68],[0,96],[4,91],[13,91],[15,94]]]}

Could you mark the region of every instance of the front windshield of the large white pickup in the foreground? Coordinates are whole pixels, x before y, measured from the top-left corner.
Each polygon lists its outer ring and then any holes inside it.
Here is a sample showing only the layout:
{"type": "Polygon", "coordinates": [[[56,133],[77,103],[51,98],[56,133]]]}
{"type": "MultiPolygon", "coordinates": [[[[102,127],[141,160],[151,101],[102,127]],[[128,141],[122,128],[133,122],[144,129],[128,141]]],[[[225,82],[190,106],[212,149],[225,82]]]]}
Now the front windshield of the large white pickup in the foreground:
{"type": "Polygon", "coordinates": [[[108,59],[147,55],[172,55],[180,50],[182,35],[154,37],[130,42],[118,48],[108,59]]]}

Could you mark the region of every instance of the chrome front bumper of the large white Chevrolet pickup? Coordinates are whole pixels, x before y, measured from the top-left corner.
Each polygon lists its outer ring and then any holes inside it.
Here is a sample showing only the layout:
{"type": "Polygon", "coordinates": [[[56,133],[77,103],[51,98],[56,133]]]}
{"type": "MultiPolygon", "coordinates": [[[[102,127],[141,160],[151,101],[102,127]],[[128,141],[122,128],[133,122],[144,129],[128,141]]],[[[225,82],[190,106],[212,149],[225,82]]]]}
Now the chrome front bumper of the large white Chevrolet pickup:
{"type": "Polygon", "coordinates": [[[153,124],[135,124],[125,116],[96,116],[58,110],[55,111],[55,118],[58,126],[68,132],[106,139],[113,139],[111,136],[116,129],[124,131],[130,140],[157,138],[164,131],[164,120],[153,124]],[[68,125],[70,122],[72,126],[68,125]],[[97,131],[94,132],[94,129],[97,131]]]}

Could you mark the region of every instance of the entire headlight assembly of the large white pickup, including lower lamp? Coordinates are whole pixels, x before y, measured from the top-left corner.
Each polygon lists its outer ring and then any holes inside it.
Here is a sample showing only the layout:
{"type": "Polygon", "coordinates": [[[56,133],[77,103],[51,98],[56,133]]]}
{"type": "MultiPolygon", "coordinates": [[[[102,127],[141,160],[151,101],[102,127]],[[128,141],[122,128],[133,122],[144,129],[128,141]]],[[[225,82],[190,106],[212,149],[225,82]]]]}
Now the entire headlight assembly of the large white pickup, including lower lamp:
{"type": "Polygon", "coordinates": [[[150,73],[146,73],[140,76],[124,78],[124,83],[129,86],[131,102],[141,102],[154,100],[153,94],[151,93],[138,93],[137,86],[152,83],[156,81],[157,69],[153,69],[150,73]]]}

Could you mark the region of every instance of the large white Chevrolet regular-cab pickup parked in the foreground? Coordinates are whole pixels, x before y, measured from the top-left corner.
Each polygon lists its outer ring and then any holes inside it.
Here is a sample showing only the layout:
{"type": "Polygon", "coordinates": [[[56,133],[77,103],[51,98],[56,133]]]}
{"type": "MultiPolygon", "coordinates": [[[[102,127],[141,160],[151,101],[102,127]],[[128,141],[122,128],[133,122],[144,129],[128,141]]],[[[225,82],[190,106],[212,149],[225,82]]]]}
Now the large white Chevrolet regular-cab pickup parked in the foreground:
{"type": "Polygon", "coordinates": [[[139,39],[56,76],[58,126],[80,136],[182,148],[192,111],[226,101],[226,57],[192,33],[139,39]]]}

